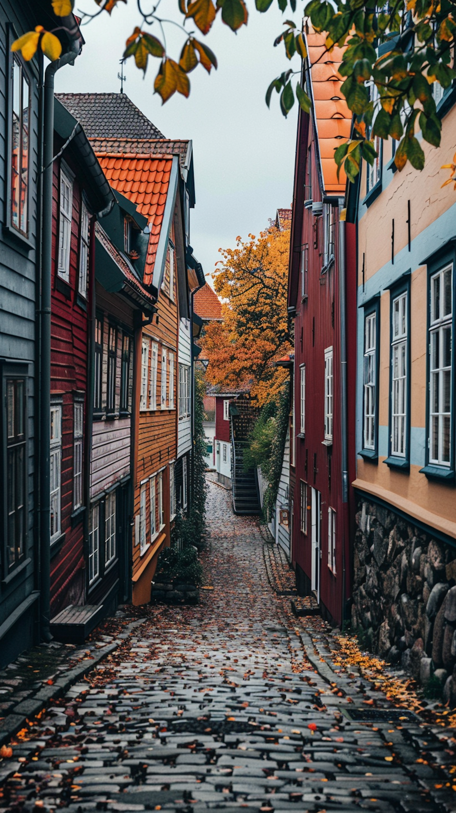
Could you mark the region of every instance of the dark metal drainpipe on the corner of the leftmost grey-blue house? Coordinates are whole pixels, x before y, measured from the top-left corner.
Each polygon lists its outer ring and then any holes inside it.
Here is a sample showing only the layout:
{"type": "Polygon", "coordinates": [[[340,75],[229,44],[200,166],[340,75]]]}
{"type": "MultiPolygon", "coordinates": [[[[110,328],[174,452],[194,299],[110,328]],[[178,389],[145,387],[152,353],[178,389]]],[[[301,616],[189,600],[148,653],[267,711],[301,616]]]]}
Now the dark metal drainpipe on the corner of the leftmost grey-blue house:
{"type": "Polygon", "coordinates": [[[54,173],[54,76],[74,62],[80,42],[46,67],[43,106],[42,242],[41,242],[41,343],[40,343],[40,554],[41,554],[41,640],[50,634],[50,284],[52,267],[52,181],[54,173]]]}

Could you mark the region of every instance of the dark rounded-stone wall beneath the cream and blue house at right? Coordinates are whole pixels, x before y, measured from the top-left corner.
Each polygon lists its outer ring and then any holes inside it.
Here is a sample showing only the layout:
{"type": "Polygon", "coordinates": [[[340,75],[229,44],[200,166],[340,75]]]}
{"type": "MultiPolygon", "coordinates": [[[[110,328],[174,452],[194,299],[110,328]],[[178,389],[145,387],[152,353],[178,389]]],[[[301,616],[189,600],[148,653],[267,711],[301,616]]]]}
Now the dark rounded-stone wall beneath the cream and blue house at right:
{"type": "Polygon", "coordinates": [[[456,705],[456,547],[358,500],[352,623],[362,644],[456,705]]]}

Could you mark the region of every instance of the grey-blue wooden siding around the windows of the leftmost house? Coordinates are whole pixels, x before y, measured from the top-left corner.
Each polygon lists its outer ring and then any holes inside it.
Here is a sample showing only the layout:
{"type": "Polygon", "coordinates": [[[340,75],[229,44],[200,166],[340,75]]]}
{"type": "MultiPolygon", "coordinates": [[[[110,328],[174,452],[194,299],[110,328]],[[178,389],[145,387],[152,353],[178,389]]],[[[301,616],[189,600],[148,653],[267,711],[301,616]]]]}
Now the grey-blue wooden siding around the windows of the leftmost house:
{"type": "MultiPolygon", "coordinates": [[[[0,220],[7,220],[7,65],[9,63],[7,22],[15,26],[17,36],[30,30],[35,22],[31,21],[29,11],[18,2],[2,0],[0,3],[0,220]]],[[[7,619],[37,587],[35,568],[35,550],[37,539],[34,536],[35,518],[35,420],[37,415],[37,383],[35,368],[35,342],[37,311],[37,180],[38,180],[38,76],[37,61],[27,63],[25,72],[30,80],[31,116],[29,137],[29,198],[28,223],[31,246],[24,246],[21,241],[10,237],[2,229],[0,234],[0,359],[24,364],[28,374],[27,387],[27,501],[26,501],[26,550],[28,559],[8,584],[0,583],[0,616],[7,619]]],[[[7,363],[2,363],[2,371],[7,372],[7,363]]],[[[1,448],[3,441],[0,441],[1,448]]],[[[0,479],[3,472],[0,470],[0,479]]],[[[2,539],[2,544],[4,539],[2,539]]],[[[6,575],[2,573],[2,576],[6,575]]],[[[16,655],[33,643],[33,612],[37,607],[34,602],[28,616],[22,616],[10,633],[0,643],[0,663],[15,659],[16,655]]],[[[36,629],[36,627],[35,627],[36,629]]]]}

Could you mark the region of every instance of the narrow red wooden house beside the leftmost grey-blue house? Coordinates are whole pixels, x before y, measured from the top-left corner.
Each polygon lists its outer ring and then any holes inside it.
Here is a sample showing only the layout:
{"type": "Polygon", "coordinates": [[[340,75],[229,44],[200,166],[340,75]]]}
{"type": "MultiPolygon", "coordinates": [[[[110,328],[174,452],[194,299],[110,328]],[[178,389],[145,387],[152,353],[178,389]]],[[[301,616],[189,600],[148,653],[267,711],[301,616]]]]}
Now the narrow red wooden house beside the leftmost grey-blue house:
{"type": "Polygon", "coordinates": [[[85,487],[91,427],[87,399],[93,225],[114,193],[80,124],[55,100],[51,300],[51,617],[85,602],[85,487]],[[73,131],[76,131],[73,133],[73,131]]]}

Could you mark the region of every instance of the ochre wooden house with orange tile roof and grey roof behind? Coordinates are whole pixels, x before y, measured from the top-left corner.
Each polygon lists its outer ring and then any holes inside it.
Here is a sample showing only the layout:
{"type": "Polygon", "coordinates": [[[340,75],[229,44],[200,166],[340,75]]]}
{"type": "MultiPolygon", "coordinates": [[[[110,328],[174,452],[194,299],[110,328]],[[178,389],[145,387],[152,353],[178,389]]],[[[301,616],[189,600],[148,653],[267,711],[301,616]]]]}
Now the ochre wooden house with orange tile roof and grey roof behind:
{"type": "Polygon", "coordinates": [[[193,330],[189,333],[185,320],[191,319],[190,292],[203,281],[189,263],[192,145],[164,139],[122,93],[66,93],[59,98],[84,124],[111,186],[135,204],[150,232],[143,283],[156,302],[156,314],[135,333],[133,372],[132,601],[141,604],[150,600],[159,551],[170,543],[176,495],[183,508],[189,500],[184,427],[192,412],[188,340],[193,330]],[[187,338],[181,341],[181,380],[180,324],[187,338]]]}

